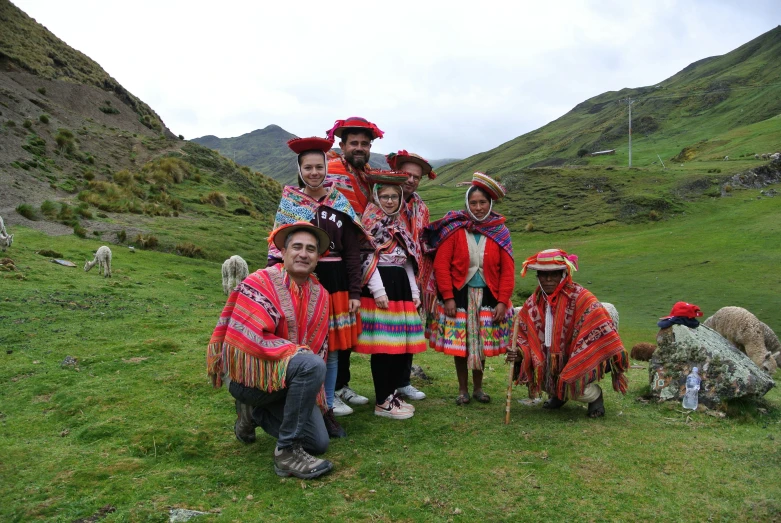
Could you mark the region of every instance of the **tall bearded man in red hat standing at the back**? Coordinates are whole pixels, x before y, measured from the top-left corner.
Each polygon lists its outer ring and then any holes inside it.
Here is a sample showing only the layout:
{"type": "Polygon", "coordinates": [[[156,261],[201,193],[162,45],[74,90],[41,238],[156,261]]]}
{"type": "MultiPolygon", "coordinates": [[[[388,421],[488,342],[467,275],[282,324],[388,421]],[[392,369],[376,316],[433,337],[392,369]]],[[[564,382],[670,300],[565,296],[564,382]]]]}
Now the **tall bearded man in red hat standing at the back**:
{"type": "MultiPolygon", "coordinates": [[[[360,219],[366,205],[372,199],[372,187],[367,176],[369,156],[372,142],[383,137],[383,132],[375,124],[351,116],[346,120],[337,120],[327,131],[328,139],[340,139],[339,147],[342,154],[328,161],[326,182],[330,182],[350,202],[350,206],[360,219]]],[[[350,388],[350,354],[352,348],[340,350],[339,369],[336,375],[336,391],[334,398],[334,414],[346,416],[353,412],[347,405],[366,405],[369,398],[362,396],[350,388]]]]}

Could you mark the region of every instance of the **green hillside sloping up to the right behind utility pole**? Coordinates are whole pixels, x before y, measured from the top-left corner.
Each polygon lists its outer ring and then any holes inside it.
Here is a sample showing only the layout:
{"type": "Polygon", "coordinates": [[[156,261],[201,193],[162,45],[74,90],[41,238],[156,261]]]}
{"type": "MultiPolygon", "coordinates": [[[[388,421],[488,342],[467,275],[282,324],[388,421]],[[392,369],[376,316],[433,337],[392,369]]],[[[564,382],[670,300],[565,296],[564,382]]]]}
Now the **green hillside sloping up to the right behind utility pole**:
{"type": "Polygon", "coordinates": [[[621,100],[626,99],[634,101],[636,167],[658,166],[659,158],[680,165],[725,156],[753,159],[755,153],[781,150],[781,119],[773,118],[781,113],[781,27],[657,85],[590,98],[535,131],[449,164],[434,183],[464,180],[474,171],[507,179],[530,167],[625,166],[628,111],[621,100]],[[605,149],[616,154],[578,156],[581,150],[605,149]]]}

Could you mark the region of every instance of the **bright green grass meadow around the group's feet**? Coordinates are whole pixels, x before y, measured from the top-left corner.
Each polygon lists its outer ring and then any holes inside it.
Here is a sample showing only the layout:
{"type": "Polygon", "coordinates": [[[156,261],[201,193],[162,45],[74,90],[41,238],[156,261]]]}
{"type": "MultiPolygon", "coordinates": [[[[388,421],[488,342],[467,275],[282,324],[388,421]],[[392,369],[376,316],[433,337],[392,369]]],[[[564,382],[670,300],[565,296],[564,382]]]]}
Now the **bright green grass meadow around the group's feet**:
{"type": "MultiPolygon", "coordinates": [[[[578,254],[576,280],[617,306],[627,347],[654,341],[678,300],[706,316],[743,306],[781,332],[779,200],[758,194],[690,203],[653,223],[514,232],[516,261],[552,246],[578,254]]],[[[201,225],[193,230],[208,235],[201,225]]],[[[229,394],[206,379],[225,299],[219,263],[116,246],[105,280],[81,269],[100,243],[13,232],[4,255],[18,270],[0,273],[2,521],[73,521],[105,505],[116,507],[106,522],[167,521],[172,507],[214,512],[196,521],[781,519],[781,392],[730,404],[724,419],[686,415],[636,401],[646,368],[630,371],[626,396],[606,393],[604,419],[577,404],[548,412],[514,401],[505,426],[499,359],[486,372],[493,402],[456,407],[452,359],[424,353],[416,363],[433,381],[416,382],[429,397],[415,417],[359,407],[327,453],[333,473],[278,478],[274,440],[259,431],[257,443],[237,442],[229,394]],[[78,364],[61,365],[66,356],[78,364]]],[[[519,279],[516,295],[533,285],[519,279]]],[[[352,367],[368,395],[368,358],[353,355],[352,367]]]]}

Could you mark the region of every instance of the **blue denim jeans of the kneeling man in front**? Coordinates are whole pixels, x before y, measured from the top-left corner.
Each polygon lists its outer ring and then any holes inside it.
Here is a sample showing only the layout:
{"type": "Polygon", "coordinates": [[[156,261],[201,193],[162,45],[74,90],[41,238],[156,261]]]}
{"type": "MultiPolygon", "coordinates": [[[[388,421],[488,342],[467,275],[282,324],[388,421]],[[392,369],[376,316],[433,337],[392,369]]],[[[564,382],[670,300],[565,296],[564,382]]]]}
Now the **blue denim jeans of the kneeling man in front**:
{"type": "Polygon", "coordinates": [[[328,450],[328,430],[317,406],[317,393],[325,379],[325,362],[317,354],[299,352],[287,366],[287,387],[274,392],[245,387],[232,381],[231,395],[252,405],[252,419],[267,434],[277,438],[277,447],[300,443],[310,454],[328,450]]]}

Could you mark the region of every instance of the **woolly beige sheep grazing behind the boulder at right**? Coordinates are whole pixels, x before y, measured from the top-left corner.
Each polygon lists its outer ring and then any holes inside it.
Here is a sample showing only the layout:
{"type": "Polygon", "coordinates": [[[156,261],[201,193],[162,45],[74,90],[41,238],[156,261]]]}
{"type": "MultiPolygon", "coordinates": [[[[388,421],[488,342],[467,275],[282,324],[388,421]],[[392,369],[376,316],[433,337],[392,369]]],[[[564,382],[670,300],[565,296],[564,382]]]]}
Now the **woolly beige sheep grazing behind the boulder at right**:
{"type": "MultiPolygon", "coordinates": [[[[746,309],[722,307],[705,320],[703,325],[721,334],[771,376],[776,371],[778,364],[765,343],[766,331],[762,327],[764,324],[746,309]]],[[[773,333],[769,327],[767,330],[773,333]]],[[[772,343],[772,339],[770,341],[772,343]]]]}

